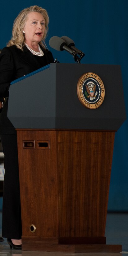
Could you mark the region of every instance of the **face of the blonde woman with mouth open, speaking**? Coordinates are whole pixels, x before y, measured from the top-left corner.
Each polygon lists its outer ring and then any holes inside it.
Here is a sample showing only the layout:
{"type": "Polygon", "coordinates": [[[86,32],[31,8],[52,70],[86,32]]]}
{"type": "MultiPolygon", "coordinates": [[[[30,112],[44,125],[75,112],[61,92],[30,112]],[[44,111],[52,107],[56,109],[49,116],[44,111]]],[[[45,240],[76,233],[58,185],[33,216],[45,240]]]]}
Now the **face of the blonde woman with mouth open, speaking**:
{"type": "Polygon", "coordinates": [[[31,45],[39,43],[44,36],[45,20],[41,13],[30,12],[24,27],[25,43],[31,45]]]}

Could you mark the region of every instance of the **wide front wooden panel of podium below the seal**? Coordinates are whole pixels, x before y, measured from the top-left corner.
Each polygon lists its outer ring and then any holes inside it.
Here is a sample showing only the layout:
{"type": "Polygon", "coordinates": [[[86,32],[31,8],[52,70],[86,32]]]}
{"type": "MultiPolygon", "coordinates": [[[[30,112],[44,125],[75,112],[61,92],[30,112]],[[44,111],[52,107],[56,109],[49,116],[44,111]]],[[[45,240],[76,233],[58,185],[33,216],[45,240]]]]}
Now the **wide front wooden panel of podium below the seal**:
{"type": "Polygon", "coordinates": [[[114,133],[59,131],[60,237],[104,236],[114,133]]]}

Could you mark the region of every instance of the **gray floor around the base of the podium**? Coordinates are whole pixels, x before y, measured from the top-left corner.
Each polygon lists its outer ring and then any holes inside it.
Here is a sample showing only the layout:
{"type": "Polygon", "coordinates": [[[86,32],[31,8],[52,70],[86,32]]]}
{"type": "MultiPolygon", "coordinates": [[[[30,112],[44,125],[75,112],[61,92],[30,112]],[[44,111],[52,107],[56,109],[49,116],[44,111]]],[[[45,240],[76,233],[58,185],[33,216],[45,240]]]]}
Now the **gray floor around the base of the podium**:
{"type": "MultiPolygon", "coordinates": [[[[0,212],[0,234],[2,213],[0,212]]],[[[128,256],[128,213],[108,213],[106,222],[106,244],[122,244],[120,253],[53,253],[29,252],[10,249],[7,241],[0,243],[0,256],[128,256]]]]}

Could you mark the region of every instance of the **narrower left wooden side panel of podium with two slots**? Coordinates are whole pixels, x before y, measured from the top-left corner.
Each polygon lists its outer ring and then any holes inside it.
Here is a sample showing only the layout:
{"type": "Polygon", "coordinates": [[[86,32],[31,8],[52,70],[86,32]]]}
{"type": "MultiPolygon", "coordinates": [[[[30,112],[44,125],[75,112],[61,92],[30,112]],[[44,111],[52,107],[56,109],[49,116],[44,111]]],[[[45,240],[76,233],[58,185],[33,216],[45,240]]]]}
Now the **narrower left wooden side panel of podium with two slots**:
{"type": "Polygon", "coordinates": [[[56,140],[51,132],[18,132],[23,235],[58,235],[56,140]],[[51,149],[22,149],[23,140],[50,140],[51,149]],[[30,225],[36,227],[31,233],[30,225]]]}

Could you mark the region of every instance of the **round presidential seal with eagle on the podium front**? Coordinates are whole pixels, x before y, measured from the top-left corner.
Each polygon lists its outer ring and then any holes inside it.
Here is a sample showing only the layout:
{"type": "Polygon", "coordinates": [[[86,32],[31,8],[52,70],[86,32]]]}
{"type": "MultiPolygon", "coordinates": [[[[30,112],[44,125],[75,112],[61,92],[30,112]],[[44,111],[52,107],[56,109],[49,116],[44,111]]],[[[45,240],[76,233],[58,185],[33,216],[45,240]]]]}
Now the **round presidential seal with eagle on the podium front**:
{"type": "Polygon", "coordinates": [[[103,103],[105,95],[103,81],[95,73],[83,74],[77,83],[77,95],[85,107],[98,108],[103,103]]]}

